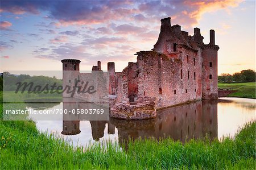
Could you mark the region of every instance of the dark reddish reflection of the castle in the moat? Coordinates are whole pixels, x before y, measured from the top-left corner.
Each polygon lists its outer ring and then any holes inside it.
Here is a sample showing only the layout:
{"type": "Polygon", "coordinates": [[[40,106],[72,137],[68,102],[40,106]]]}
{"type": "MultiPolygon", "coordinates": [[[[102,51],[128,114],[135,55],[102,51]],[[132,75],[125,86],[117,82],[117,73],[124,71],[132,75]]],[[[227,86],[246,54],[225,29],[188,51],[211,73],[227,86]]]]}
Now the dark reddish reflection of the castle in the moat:
{"type": "MultiPolygon", "coordinates": [[[[154,119],[127,121],[110,118],[109,121],[90,121],[92,136],[99,140],[104,136],[106,124],[108,134],[115,133],[118,129],[118,141],[125,142],[129,138],[151,138],[155,139],[171,137],[174,140],[185,142],[192,138],[202,138],[206,135],[210,139],[217,138],[217,100],[203,100],[186,105],[170,107],[159,110],[158,116],[154,119]]],[[[63,109],[73,109],[74,105],[63,103],[63,109]]],[[[76,109],[86,106],[79,104],[76,109]]],[[[63,135],[76,135],[80,131],[80,121],[65,121],[65,117],[76,117],[77,115],[63,115],[63,135]]]]}

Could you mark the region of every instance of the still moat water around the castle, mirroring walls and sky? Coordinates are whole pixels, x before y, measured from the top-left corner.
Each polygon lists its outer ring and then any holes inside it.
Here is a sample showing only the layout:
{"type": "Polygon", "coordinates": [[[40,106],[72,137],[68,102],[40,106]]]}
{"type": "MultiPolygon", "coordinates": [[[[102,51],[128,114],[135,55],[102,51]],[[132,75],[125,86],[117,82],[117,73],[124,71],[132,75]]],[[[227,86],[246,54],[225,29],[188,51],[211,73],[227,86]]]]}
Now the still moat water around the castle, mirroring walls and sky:
{"type": "MultiPolygon", "coordinates": [[[[31,108],[31,107],[28,107],[31,108]]],[[[63,103],[51,103],[49,109],[62,109],[63,103]]],[[[32,108],[36,109],[36,108],[32,108]]],[[[88,146],[94,142],[132,138],[167,138],[185,142],[191,138],[210,139],[224,136],[233,138],[246,123],[256,119],[256,99],[219,98],[159,110],[155,119],[125,121],[110,118],[109,121],[80,121],[80,133],[63,135],[63,121],[36,121],[42,132],[61,136],[73,146],[88,146]]]]}

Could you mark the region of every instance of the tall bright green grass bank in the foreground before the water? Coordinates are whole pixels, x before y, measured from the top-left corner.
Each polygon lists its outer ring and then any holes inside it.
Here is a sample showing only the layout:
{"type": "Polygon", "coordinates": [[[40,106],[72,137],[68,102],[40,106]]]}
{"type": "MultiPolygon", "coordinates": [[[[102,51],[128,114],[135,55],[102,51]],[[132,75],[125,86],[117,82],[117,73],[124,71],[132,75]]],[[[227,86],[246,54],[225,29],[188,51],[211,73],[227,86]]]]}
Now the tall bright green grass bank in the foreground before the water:
{"type": "MultiPolygon", "coordinates": [[[[0,105],[2,110],[2,105],[0,105]]],[[[1,111],[0,110],[0,111],[1,111]]],[[[31,121],[0,122],[0,169],[253,169],[255,125],[246,125],[234,140],[136,140],[127,151],[114,143],[73,148],[41,134],[31,121]]]]}

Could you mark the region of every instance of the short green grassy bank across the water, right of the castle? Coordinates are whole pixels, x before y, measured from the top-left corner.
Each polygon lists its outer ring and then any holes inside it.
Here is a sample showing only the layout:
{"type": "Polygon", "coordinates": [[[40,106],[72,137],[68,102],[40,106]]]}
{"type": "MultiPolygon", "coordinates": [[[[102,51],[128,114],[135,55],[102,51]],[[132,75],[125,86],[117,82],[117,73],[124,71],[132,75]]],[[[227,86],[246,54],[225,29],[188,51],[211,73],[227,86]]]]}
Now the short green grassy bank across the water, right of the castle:
{"type": "Polygon", "coordinates": [[[232,90],[238,90],[238,92],[229,94],[228,97],[244,97],[244,98],[256,98],[255,97],[255,82],[241,82],[241,83],[218,83],[218,88],[230,88],[232,90]]]}

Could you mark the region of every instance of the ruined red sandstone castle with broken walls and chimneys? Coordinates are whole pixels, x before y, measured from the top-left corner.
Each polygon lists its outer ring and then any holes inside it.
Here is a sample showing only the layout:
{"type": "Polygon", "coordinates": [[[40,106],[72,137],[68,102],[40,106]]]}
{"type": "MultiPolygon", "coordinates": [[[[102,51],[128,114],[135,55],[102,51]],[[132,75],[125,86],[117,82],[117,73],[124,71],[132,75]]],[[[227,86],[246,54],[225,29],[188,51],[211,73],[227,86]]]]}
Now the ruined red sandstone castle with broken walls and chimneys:
{"type": "MultiPolygon", "coordinates": [[[[137,52],[136,63],[129,62],[122,72],[115,72],[115,64],[108,63],[106,83],[110,117],[154,118],[159,109],[200,99],[218,98],[219,47],[215,44],[214,30],[210,30],[209,44],[204,44],[199,28],[194,28],[194,35],[191,36],[181,31],[179,25],[171,26],[170,17],[161,22],[154,48],[137,52]]],[[[61,62],[64,71],[79,71],[79,60],[61,62]]],[[[93,71],[101,71],[100,61],[97,66],[93,66],[93,71]]],[[[78,94],[74,97],[82,99],[78,94]]]]}

